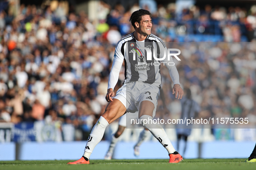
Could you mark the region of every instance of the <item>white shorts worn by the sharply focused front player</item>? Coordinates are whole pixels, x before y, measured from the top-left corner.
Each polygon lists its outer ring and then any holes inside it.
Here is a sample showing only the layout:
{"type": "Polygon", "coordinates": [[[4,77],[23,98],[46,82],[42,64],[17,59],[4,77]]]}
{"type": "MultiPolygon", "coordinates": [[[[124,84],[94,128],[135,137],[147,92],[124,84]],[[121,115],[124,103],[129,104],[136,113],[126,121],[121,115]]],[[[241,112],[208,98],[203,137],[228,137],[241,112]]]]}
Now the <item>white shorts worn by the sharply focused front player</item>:
{"type": "Polygon", "coordinates": [[[129,82],[118,89],[115,99],[120,100],[126,107],[126,112],[135,113],[139,110],[142,101],[151,101],[155,108],[153,117],[156,115],[157,100],[160,89],[155,85],[143,82],[129,82]]]}

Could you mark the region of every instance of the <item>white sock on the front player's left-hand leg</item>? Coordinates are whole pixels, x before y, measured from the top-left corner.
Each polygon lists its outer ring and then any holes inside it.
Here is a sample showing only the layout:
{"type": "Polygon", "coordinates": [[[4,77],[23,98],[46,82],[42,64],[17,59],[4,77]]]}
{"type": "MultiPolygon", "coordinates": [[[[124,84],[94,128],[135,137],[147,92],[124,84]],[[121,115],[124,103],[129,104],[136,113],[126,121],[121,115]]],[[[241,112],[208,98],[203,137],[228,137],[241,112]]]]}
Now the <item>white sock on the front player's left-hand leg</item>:
{"type": "Polygon", "coordinates": [[[92,153],[95,146],[103,138],[107,125],[108,125],[107,120],[104,117],[100,116],[100,119],[94,125],[93,129],[91,130],[91,134],[89,135],[89,138],[87,140],[86,147],[84,149],[84,157],[87,157],[89,159],[91,155],[89,153],[92,153]]]}

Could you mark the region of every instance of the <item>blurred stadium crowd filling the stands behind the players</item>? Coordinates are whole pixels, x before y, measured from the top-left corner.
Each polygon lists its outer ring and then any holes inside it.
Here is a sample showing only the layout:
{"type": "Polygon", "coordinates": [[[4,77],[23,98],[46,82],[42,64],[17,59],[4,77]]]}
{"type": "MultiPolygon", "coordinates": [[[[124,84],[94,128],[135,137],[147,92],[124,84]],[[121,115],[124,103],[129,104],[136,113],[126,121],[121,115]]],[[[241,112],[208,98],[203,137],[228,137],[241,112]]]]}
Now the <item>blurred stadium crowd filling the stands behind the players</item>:
{"type": "MultiPolygon", "coordinates": [[[[21,5],[16,16],[8,4],[1,8],[0,122],[47,118],[58,127],[73,124],[75,140],[86,140],[107,105],[115,45],[133,32],[130,14],[139,8],[135,4],[126,11],[119,4],[111,9],[100,2],[94,21],[84,12],[69,13],[65,2],[21,5]]],[[[152,34],[181,50],[181,62],[175,62],[180,82],[201,105],[200,118],[247,116],[256,123],[256,44],[235,43],[255,40],[256,6],[250,10],[192,6],[175,13],[171,3],[159,5],[152,22],[152,34]]],[[[124,68],[117,88],[123,74],[124,68]]],[[[179,101],[170,92],[164,67],[162,76],[170,114],[159,111],[157,116],[178,118],[179,101]]],[[[161,106],[159,101],[159,110],[161,106]]]]}

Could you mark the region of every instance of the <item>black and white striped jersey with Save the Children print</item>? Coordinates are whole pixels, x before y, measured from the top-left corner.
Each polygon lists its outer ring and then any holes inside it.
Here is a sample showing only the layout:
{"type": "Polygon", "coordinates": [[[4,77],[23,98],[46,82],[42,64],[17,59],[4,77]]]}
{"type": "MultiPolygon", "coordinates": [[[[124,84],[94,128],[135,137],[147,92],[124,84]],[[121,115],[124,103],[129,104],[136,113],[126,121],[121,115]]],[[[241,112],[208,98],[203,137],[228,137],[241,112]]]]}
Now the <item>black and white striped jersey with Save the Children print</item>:
{"type": "Polygon", "coordinates": [[[125,62],[124,83],[141,81],[160,87],[160,62],[163,61],[155,60],[153,54],[161,58],[164,53],[163,49],[166,49],[164,42],[152,34],[148,35],[144,41],[136,41],[133,33],[122,38],[117,43],[114,61],[123,62],[124,60],[125,62]],[[144,47],[151,50],[152,60],[147,60],[147,51],[143,49],[144,47]]]}

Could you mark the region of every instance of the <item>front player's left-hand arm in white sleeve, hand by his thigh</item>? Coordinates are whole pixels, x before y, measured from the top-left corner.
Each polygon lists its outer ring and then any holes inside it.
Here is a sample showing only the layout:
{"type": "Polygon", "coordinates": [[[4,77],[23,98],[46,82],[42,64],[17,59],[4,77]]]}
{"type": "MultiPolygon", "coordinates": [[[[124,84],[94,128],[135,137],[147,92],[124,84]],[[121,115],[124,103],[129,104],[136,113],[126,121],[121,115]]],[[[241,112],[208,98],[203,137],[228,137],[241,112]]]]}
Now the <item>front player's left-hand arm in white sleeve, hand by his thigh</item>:
{"type": "MultiPolygon", "coordinates": [[[[121,44],[121,43],[119,43],[121,44]]],[[[112,64],[112,69],[110,71],[109,79],[108,79],[108,87],[107,87],[107,95],[106,95],[106,101],[110,102],[113,101],[112,97],[115,95],[114,88],[117,84],[119,72],[123,65],[123,54],[121,53],[121,47],[117,44],[115,54],[114,54],[114,60],[112,64]]]]}

